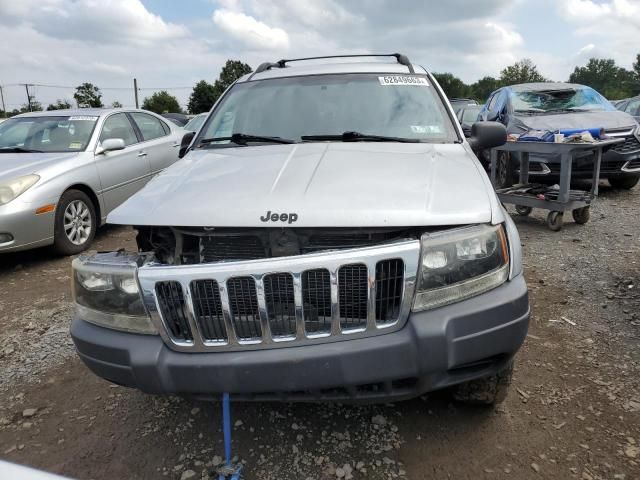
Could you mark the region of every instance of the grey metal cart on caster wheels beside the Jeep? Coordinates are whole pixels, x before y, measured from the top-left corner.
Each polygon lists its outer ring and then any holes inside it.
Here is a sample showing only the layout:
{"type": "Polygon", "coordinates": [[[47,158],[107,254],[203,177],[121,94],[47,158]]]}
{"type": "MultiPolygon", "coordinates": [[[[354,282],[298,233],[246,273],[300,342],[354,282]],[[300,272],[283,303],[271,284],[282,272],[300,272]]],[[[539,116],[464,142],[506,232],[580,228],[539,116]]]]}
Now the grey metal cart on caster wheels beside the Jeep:
{"type": "MultiPolygon", "coordinates": [[[[550,210],[547,215],[547,226],[557,232],[562,228],[563,214],[571,210],[576,223],[584,224],[589,221],[591,202],[598,196],[598,181],[600,179],[600,162],[602,161],[602,150],[623,139],[602,140],[595,143],[550,143],[550,142],[506,142],[500,147],[491,150],[491,184],[495,188],[496,167],[498,164],[498,152],[517,152],[520,157],[520,180],[521,185],[529,183],[529,163],[555,163],[560,164],[560,189],[556,198],[538,198],[526,193],[507,193],[509,189],[496,190],[498,198],[502,203],[513,203],[516,211],[520,215],[529,215],[533,208],[550,210]],[[593,177],[591,191],[571,190],[571,165],[577,153],[592,151],[594,154],[593,177]],[[529,154],[551,154],[545,156],[544,160],[529,159],[529,154]]],[[[549,195],[551,196],[551,195],[549,195]]]]}

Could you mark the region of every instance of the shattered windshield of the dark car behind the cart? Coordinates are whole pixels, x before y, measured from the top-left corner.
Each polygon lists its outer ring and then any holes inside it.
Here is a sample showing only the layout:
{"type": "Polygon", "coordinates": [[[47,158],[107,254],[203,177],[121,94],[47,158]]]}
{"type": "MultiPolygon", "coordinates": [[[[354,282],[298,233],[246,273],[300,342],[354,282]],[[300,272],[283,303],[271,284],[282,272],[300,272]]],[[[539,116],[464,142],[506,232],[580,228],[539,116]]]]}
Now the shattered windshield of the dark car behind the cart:
{"type": "Polygon", "coordinates": [[[511,92],[511,103],[516,112],[615,111],[606,98],[589,87],[511,92]]]}

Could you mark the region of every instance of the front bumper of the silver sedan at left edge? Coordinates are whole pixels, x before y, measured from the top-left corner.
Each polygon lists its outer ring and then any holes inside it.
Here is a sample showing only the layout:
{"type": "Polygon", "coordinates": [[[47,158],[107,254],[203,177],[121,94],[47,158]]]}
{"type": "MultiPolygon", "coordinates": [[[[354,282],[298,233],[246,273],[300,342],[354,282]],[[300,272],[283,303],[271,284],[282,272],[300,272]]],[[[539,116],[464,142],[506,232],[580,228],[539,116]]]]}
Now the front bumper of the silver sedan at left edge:
{"type": "Polygon", "coordinates": [[[36,215],[33,204],[19,200],[0,206],[0,234],[11,236],[10,241],[0,241],[0,252],[26,250],[53,243],[55,212],[36,215]]]}

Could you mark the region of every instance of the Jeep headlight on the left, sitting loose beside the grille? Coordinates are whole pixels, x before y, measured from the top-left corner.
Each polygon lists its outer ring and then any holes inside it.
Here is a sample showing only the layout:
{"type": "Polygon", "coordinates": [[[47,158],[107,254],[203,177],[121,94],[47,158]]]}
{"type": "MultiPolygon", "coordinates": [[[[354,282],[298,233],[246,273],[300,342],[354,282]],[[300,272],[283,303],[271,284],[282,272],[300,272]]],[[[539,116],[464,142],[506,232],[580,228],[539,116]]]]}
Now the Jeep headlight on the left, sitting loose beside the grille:
{"type": "Polygon", "coordinates": [[[123,253],[76,258],[72,286],[78,316],[102,327],[157,334],[138,288],[138,258],[123,253]]]}

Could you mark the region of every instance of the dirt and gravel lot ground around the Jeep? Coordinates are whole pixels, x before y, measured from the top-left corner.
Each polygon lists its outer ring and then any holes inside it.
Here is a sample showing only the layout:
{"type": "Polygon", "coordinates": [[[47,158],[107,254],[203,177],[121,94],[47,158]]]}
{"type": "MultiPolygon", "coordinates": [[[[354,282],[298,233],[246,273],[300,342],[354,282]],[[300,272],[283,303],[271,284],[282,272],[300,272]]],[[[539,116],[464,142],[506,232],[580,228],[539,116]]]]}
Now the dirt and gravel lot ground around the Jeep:
{"type": "MultiPolygon", "coordinates": [[[[586,226],[516,219],[533,316],[503,405],[235,404],[245,478],[640,478],[638,212],[640,187],[605,187],[586,226]]],[[[96,242],[132,245],[125,228],[96,242]]],[[[79,479],[208,478],[219,406],[89,373],[67,332],[69,263],[0,257],[0,458],[79,479]]]]}

